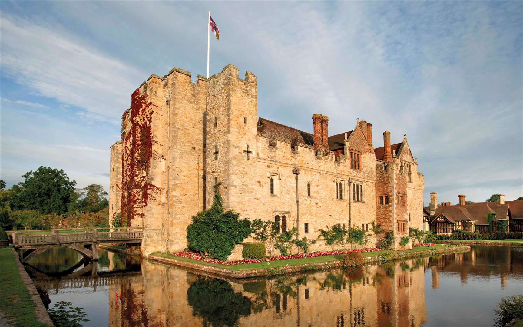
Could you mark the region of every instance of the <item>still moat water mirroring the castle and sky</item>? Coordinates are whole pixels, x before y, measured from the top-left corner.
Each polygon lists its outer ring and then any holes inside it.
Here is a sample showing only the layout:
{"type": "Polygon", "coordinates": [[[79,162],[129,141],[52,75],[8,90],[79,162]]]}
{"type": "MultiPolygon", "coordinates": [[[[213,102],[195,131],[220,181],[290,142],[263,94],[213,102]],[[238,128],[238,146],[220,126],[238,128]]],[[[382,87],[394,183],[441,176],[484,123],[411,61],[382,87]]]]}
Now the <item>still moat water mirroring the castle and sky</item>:
{"type": "Polygon", "coordinates": [[[87,326],[492,326],[499,299],[523,293],[516,247],[254,280],[98,255],[77,265],[81,255],[56,248],[30,262],[50,307],[84,308],[87,326]]]}

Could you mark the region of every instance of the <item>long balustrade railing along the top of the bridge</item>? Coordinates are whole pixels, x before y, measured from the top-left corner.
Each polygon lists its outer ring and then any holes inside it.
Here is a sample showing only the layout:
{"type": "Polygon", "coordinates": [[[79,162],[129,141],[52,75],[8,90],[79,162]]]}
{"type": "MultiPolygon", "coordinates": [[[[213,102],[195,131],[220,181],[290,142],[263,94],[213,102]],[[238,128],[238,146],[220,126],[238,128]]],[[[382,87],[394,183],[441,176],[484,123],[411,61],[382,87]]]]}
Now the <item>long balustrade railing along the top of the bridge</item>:
{"type": "Polygon", "coordinates": [[[80,232],[76,231],[49,230],[51,233],[37,235],[26,234],[27,232],[13,232],[13,245],[22,247],[107,241],[139,241],[143,238],[142,228],[85,228],[80,232]]]}

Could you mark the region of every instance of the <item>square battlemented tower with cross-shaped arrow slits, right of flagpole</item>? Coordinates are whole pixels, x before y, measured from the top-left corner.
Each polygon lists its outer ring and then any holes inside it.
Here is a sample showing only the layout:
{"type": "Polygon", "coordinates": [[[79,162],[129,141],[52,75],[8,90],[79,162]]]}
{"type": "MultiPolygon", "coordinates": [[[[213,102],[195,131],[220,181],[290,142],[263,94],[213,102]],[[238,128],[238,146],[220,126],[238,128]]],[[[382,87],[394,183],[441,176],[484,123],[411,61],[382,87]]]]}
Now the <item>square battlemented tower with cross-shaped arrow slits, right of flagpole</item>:
{"type": "Polygon", "coordinates": [[[209,77],[206,92],[207,207],[212,204],[214,185],[222,183],[224,206],[248,212],[251,202],[245,195],[252,181],[246,172],[254,170],[257,152],[256,76],[246,72],[242,80],[238,68],[230,64],[209,77]]]}

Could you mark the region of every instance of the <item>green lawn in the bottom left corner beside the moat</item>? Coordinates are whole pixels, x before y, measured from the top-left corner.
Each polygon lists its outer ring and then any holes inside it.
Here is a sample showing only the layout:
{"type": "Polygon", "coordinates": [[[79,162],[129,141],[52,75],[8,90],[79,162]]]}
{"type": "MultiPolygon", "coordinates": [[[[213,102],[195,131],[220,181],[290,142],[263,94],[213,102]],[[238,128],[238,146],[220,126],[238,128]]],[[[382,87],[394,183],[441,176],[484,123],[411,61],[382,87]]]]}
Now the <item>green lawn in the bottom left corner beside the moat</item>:
{"type": "Polygon", "coordinates": [[[0,310],[13,326],[47,326],[38,321],[35,303],[20,278],[10,247],[0,249],[0,310]]]}

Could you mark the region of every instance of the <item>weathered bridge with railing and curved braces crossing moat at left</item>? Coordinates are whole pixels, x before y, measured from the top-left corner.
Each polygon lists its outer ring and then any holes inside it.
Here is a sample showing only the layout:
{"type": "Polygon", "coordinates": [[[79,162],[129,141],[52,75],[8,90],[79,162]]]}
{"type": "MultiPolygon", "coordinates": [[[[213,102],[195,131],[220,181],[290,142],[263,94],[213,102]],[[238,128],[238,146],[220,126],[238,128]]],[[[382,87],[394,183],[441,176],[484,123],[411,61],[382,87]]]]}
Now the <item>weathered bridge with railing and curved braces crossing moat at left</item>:
{"type": "Polygon", "coordinates": [[[141,243],[143,238],[142,228],[85,228],[33,232],[43,232],[43,234],[27,234],[27,231],[13,232],[13,246],[21,263],[26,263],[50,247],[57,246],[70,247],[84,257],[97,261],[97,244],[141,243]]]}

